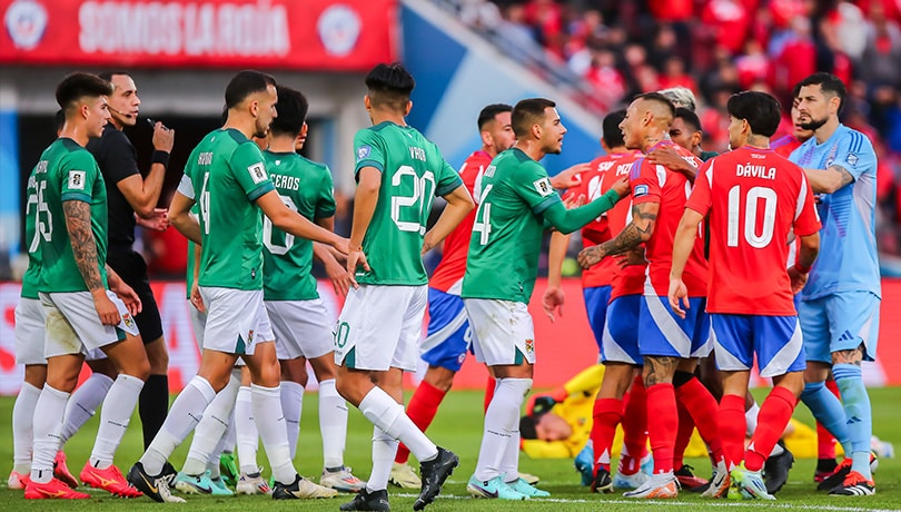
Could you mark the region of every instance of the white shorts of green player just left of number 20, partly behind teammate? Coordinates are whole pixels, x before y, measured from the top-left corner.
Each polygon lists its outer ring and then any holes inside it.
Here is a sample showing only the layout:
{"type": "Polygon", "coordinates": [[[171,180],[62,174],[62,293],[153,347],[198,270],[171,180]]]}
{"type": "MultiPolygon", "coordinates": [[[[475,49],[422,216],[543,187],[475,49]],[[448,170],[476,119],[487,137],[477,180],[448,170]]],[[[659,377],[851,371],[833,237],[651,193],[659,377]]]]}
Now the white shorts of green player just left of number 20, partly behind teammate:
{"type": "Polygon", "coordinates": [[[311,301],[265,301],[279,360],[315,360],[335,349],[325,304],[311,301]]]}

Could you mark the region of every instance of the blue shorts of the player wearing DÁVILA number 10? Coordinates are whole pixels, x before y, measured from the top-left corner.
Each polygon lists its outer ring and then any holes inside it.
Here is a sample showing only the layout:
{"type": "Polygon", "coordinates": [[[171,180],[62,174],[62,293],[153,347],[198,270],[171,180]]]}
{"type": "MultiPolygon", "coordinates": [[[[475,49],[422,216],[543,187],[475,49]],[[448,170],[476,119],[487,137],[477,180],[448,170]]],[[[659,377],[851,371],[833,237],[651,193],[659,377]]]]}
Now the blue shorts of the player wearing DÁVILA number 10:
{"type": "Polygon", "coordinates": [[[724,372],[751,370],[758,355],[760,376],[803,372],[804,341],[796,316],[710,315],[716,366],[724,372]]]}

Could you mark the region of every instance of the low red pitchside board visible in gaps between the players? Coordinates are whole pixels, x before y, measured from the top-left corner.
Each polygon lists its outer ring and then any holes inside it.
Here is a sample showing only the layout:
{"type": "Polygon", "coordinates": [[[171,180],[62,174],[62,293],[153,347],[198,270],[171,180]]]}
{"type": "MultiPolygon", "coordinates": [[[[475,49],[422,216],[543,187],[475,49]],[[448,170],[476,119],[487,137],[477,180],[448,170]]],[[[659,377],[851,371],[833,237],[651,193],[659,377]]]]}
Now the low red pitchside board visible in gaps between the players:
{"type": "MultiPolygon", "coordinates": [[[[169,347],[169,386],[178,392],[197,373],[200,354],[197,349],[188,308],[185,298],[185,283],[151,284],[159,304],[166,343],[169,347]]],[[[564,279],[566,296],[564,316],[551,322],[541,306],[546,279],[538,279],[535,295],[528,309],[535,323],[535,388],[558,386],[573,375],[597,361],[597,345],[588,327],[582,287],[578,279],[564,279]]],[[[0,395],[14,395],[22,383],[23,367],[16,364],[14,315],[19,302],[18,283],[0,284],[0,395]]],[[[319,294],[334,318],[340,309],[341,301],[331,291],[328,282],[319,282],[319,294]]],[[[883,279],[882,312],[878,348],[878,361],[864,363],[863,375],[868,385],[901,385],[901,346],[892,343],[901,335],[901,315],[894,315],[901,305],[901,279],[883,279]]],[[[426,318],[427,322],[427,318],[426,318]]],[[[424,329],[425,332],[425,329],[424,329]]],[[[418,383],[417,375],[425,373],[425,363],[417,374],[407,380],[409,387],[418,383]]],[[[310,381],[313,380],[310,372],[310,381]]],[[[485,368],[469,356],[454,381],[455,388],[484,388],[485,368]]],[[[752,385],[769,385],[754,375],[752,385]]],[[[315,383],[311,384],[315,386],[315,383]]]]}

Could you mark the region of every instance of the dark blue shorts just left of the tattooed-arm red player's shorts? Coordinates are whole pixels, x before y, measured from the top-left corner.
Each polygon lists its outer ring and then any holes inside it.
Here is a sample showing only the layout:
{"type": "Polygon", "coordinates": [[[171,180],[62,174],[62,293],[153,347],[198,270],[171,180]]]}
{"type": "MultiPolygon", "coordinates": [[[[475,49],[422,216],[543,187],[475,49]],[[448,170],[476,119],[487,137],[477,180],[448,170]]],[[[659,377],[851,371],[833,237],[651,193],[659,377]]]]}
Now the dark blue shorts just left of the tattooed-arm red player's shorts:
{"type": "Polygon", "coordinates": [[[607,322],[601,344],[601,361],[644,364],[638,352],[638,315],[642,309],[641,295],[623,295],[613,299],[607,307],[607,322]]]}

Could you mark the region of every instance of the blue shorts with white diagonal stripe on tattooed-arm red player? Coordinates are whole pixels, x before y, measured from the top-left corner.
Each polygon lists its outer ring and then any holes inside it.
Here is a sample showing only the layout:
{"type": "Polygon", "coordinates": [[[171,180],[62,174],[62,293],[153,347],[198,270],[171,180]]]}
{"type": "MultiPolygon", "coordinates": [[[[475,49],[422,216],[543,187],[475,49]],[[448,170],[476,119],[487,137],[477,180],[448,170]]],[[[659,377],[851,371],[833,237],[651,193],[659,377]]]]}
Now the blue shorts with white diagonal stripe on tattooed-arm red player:
{"type": "Polygon", "coordinates": [[[657,295],[642,297],[638,316],[638,349],[642,355],[706,357],[710,343],[710,315],[706,297],[691,297],[685,319],[673,313],[670,299],[657,295]]]}

